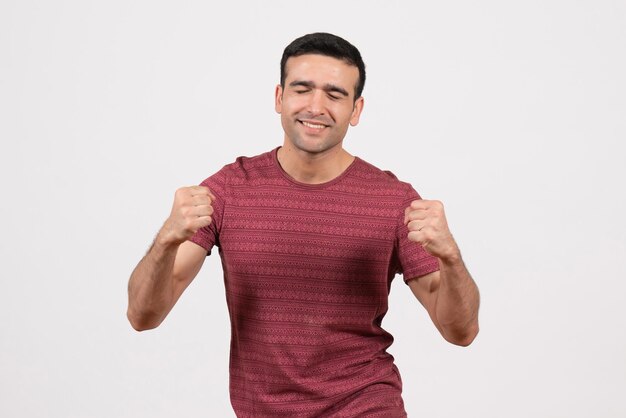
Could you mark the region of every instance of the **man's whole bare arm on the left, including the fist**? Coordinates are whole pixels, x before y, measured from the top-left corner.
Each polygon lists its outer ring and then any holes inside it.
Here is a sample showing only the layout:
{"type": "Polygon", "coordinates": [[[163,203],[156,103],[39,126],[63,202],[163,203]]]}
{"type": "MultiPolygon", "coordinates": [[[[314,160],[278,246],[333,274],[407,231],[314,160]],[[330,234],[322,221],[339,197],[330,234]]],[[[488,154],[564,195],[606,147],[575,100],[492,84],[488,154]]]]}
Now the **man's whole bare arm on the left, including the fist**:
{"type": "Polygon", "coordinates": [[[170,217],[128,282],[127,316],[137,331],[159,326],[200,271],[206,250],[187,239],[211,223],[212,199],[206,187],[176,192],[170,217]]]}

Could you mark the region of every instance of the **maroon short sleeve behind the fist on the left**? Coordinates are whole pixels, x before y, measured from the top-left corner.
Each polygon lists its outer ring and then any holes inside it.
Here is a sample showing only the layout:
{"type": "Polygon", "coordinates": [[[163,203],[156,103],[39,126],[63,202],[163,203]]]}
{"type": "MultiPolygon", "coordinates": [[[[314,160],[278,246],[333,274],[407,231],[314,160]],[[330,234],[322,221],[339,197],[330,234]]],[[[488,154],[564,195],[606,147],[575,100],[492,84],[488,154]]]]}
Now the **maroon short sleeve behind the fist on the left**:
{"type": "Polygon", "coordinates": [[[208,226],[200,228],[189,241],[194,242],[211,254],[214,245],[219,247],[219,235],[224,217],[225,197],[226,197],[226,167],[200,183],[201,186],[208,187],[215,196],[212,203],[213,215],[208,226]]]}

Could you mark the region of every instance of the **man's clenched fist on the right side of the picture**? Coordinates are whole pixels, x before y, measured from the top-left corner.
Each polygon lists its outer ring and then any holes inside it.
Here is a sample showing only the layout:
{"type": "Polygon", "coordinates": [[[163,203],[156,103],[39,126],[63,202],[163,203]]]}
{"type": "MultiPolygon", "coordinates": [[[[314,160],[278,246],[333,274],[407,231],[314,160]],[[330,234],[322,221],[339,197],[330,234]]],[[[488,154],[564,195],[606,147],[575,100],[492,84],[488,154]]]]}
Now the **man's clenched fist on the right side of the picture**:
{"type": "Polygon", "coordinates": [[[410,241],[421,244],[442,260],[459,256],[459,248],[448,229],[443,204],[437,200],[414,200],[404,211],[404,223],[410,241]]]}

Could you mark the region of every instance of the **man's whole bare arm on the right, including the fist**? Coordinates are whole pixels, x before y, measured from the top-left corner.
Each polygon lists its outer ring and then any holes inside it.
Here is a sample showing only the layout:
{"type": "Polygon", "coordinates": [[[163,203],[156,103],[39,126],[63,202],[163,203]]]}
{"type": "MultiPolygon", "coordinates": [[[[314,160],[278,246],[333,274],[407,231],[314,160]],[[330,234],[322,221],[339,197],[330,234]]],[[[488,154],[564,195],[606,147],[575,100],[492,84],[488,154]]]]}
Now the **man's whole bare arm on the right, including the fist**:
{"type": "Polygon", "coordinates": [[[405,212],[409,240],[439,259],[440,270],[410,280],[409,287],[426,308],[441,335],[467,346],[478,334],[480,295],[447,225],[443,205],[416,200],[405,212]]]}

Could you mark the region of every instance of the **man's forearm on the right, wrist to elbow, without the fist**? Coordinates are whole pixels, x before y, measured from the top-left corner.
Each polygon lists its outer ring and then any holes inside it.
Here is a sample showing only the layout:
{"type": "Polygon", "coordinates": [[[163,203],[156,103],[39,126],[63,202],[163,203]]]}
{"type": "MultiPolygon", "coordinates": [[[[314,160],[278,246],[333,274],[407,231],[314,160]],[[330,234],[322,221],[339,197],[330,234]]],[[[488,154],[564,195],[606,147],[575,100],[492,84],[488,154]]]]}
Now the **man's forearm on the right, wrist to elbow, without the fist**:
{"type": "Polygon", "coordinates": [[[469,345],[478,334],[478,287],[461,256],[439,260],[441,282],[437,292],[436,316],[444,337],[458,345],[469,345]]]}

